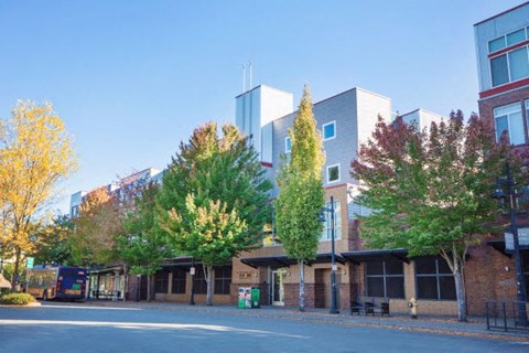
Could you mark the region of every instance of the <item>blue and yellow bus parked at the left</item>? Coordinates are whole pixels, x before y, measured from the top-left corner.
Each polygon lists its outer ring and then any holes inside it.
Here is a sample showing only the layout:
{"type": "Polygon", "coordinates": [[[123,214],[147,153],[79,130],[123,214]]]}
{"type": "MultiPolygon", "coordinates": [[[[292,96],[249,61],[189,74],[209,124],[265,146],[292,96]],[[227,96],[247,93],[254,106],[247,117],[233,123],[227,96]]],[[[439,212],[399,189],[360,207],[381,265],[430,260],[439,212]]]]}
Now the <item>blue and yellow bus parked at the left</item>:
{"type": "Polygon", "coordinates": [[[86,269],[71,266],[37,265],[26,272],[25,291],[42,300],[84,299],[86,269]]]}

